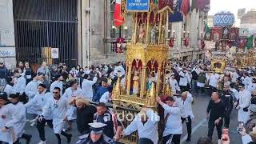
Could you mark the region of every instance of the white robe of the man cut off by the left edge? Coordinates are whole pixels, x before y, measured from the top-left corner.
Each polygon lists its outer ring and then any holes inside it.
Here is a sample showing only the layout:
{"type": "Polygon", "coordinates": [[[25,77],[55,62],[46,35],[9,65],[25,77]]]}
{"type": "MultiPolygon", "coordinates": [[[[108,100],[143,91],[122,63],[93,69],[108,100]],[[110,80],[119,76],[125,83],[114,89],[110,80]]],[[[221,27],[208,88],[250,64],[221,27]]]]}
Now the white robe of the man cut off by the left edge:
{"type": "Polygon", "coordinates": [[[11,130],[14,128],[11,127],[7,132],[2,132],[2,128],[6,126],[6,122],[9,122],[12,118],[12,110],[14,109],[13,104],[7,104],[0,107],[0,141],[11,144],[13,138],[11,137],[11,130]]]}

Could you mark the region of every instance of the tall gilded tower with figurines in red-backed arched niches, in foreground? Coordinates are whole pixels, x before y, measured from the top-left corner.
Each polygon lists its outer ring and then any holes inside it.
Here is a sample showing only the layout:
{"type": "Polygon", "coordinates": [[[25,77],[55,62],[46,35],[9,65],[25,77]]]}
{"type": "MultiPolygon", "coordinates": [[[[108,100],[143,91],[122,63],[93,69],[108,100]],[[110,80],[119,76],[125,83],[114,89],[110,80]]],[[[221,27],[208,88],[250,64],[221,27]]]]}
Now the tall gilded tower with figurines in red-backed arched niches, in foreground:
{"type": "MultiPolygon", "coordinates": [[[[126,2],[126,1],[123,1],[126,2]]],[[[166,44],[168,14],[170,6],[159,10],[162,1],[149,1],[148,11],[132,11],[132,39],[127,44],[126,86],[120,86],[122,79],[114,85],[113,102],[119,106],[141,109],[143,106],[155,109],[155,97],[171,94],[166,80],[166,62],[169,47],[166,44]]],[[[169,2],[169,1],[168,1],[169,2]]],[[[122,3],[122,7],[127,6],[122,3]]],[[[127,14],[129,10],[122,10],[127,14]]]]}

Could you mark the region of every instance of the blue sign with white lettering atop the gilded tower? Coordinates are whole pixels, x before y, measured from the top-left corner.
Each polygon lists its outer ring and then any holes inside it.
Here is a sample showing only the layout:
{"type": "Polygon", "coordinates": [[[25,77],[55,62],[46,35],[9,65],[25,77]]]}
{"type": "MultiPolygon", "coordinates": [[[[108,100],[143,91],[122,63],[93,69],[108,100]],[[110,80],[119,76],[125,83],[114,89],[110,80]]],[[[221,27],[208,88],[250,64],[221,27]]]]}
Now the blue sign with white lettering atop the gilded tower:
{"type": "Polygon", "coordinates": [[[127,11],[149,11],[150,0],[127,0],[126,10],[127,11]]]}

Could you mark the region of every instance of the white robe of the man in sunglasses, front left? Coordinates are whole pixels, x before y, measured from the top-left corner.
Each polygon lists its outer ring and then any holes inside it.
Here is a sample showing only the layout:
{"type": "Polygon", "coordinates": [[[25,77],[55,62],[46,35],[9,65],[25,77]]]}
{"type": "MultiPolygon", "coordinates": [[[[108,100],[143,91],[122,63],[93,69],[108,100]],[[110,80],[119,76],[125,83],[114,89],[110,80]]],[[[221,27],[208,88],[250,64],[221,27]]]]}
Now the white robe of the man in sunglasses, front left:
{"type": "Polygon", "coordinates": [[[42,110],[43,117],[49,117],[51,115],[53,118],[54,134],[61,134],[65,126],[65,121],[63,120],[70,114],[68,107],[69,105],[66,98],[61,97],[59,100],[56,100],[54,96],[52,96],[42,110]]]}

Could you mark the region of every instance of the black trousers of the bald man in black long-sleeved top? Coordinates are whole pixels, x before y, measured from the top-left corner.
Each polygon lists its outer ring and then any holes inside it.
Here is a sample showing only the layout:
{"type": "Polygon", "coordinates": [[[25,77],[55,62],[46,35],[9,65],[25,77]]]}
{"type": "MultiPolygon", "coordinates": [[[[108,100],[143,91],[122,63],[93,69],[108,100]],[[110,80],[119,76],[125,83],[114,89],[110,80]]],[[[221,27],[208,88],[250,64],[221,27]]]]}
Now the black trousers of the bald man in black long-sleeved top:
{"type": "Polygon", "coordinates": [[[217,129],[217,133],[218,133],[218,139],[221,139],[222,138],[222,123],[223,121],[221,120],[218,125],[215,125],[214,124],[214,121],[215,120],[209,120],[208,122],[208,138],[212,138],[213,136],[213,133],[214,133],[214,127],[216,126],[216,129],[217,129]]]}

